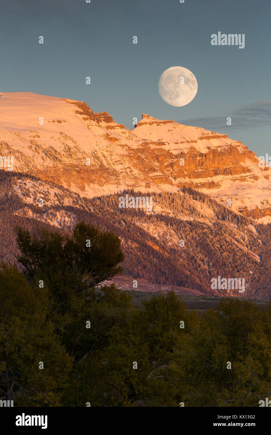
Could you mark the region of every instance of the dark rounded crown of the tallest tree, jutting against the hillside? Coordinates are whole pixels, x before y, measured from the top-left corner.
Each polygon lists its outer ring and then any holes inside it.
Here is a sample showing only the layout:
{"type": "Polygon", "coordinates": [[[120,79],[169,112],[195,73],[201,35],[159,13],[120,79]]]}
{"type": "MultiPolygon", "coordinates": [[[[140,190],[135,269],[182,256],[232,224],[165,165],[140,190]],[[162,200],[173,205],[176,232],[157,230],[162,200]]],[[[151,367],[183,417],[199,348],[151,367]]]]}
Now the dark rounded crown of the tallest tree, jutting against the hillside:
{"type": "Polygon", "coordinates": [[[55,285],[61,274],[64,287],[70,285],[80,292],[122,271],[118,266],[124,260],[120,239],[112,232],[84,222],[74,226],[71,238],[46,229],[34,235],[20,227],[15,231],[22,253],[17,260],[28,279],[44,274],[55,285]]]}

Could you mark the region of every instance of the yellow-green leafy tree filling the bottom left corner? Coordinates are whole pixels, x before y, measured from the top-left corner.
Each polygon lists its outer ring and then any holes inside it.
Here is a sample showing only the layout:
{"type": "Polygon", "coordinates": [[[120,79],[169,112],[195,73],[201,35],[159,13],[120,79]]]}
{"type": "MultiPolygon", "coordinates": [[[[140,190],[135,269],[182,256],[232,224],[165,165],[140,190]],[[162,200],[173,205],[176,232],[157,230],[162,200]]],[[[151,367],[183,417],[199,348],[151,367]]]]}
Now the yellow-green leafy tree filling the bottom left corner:
{"type": "Polygon", "coordinates": [[[0,391],[19,406],[59,406],[71,360],[47,320],[48,291],[0,270],[0,391]],[[43,369],[39,368],[40,361],[43,369]]]}

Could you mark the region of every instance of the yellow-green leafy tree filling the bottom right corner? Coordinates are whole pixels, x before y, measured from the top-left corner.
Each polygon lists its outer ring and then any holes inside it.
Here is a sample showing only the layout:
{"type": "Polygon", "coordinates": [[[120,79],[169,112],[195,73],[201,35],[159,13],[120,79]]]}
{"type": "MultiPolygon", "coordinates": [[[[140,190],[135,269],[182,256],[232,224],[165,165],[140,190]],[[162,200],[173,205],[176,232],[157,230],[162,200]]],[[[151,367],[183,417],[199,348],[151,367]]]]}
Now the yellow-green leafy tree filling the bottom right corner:
{"type": "Polygon", "coordinates": [[[231,299],[207,311],[185,366],[188,406],[257,406],[271,395],[270,313],[270,305],[261,310],[231,299]]]}

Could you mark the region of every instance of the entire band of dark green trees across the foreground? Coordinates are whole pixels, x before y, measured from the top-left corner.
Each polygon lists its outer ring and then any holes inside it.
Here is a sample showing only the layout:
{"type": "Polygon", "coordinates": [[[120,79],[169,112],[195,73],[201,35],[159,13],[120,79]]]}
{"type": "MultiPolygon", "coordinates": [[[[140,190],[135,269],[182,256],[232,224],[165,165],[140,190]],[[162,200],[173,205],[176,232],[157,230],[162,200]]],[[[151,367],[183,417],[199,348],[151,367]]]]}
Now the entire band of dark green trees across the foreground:
{"type": "Polygon", "coordinates": [[[271,302],[225,299],[199,315],[170,291],[136,308],[114,284],[94,287],[121,271],[114,234],[82,222],[72,237],[17,228],[17,242],[22,272],[0,268],[1,399],[253,407],[271,397],[271,302]]]}

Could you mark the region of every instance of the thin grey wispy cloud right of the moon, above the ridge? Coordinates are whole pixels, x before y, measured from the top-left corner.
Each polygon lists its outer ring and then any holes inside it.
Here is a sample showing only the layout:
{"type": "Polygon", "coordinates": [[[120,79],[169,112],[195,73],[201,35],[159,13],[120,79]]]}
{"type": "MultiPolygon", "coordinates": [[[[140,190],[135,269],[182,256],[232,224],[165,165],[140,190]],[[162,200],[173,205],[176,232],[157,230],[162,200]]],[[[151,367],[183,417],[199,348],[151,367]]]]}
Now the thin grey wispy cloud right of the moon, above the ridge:
{"type": "Polygon", "coordinates": [[[231,126],[237,129],[248,127],[261,127],[270,124],[271,103],[267,101],[256,101],[251,104],[243,104],[227,113],[214,117],[201,117],[181,120],[181,124],[204,127],[208,130],[218,130],[227,127],[227,118],[231,117],[231,126]]]}

